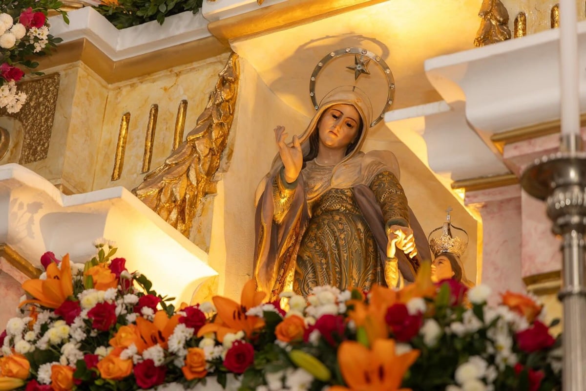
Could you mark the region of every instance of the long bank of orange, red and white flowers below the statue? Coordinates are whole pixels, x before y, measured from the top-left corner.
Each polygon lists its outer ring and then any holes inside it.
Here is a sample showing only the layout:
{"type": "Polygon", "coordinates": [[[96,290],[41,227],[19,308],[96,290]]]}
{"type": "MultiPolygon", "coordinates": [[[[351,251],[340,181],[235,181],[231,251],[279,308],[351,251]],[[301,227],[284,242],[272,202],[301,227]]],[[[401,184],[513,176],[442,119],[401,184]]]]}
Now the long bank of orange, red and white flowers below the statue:
{"type": "Polygon", "coordinates": [[[399,291],[325,286],[264,302],[249,281],[240,302],[176,309],[111,259],[111,243],[96,245],[85,264],[46,253],[45,275],[23,283],[32,298],[0,335],[0,390],[226,387],[229,377],[242,391],[560,389],[560,338],[535,300],[507,292],[491,307],[488,287],[433,284],[426,264],[399,291]]]}

